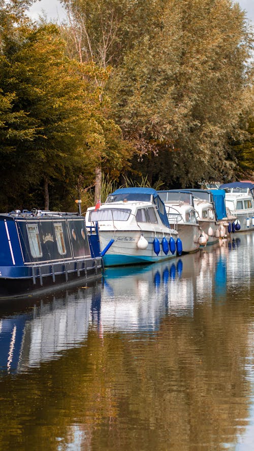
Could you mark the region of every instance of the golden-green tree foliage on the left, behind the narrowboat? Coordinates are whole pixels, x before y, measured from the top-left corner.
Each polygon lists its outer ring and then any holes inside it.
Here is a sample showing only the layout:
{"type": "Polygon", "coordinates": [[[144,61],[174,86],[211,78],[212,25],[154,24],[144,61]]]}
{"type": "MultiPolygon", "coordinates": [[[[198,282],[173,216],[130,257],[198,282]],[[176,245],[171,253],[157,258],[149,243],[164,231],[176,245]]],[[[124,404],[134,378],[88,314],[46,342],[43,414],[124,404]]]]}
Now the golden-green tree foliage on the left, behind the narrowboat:
{"type": "Polygon", "coordinates": [[[98,160],[117,160],[121,147],[120,128],[106,118],[108,98],[93,83],[107,74],[68,58],[55,25],[31,25],[14,6],[0,17],[1,209],[35,206],[48,184],[54,206],[67,207],[80,176],[89,184],[98,160]]]}

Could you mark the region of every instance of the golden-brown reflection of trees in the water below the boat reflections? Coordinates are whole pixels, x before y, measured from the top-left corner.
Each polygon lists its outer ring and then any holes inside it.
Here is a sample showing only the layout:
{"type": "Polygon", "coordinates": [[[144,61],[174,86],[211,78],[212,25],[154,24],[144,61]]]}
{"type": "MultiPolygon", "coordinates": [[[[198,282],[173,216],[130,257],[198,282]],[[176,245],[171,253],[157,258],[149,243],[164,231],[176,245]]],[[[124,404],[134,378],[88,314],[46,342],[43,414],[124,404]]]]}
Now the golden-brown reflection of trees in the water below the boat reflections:
{"type": "Polygon", "coordinates": [[[248,416],[248,308],[229,294],[165,317],[155,335],[102,340],[93,327],[82,348],[4,377],[3,449],[67,449],[77,428],[80,449],[222,449],[248,416]]]}

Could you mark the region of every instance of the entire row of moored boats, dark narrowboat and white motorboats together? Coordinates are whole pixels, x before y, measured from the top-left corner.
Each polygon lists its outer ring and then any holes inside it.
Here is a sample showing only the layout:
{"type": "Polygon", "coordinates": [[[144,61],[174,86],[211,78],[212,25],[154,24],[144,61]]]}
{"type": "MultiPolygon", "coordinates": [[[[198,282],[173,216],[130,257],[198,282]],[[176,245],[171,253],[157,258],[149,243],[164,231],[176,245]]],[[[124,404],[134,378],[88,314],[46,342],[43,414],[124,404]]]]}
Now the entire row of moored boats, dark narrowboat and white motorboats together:
{"type": "Polygon", "coordinates": [[[254,185],[121,188],[81,214],[0,214],[0,299],[100,277],[104,266],[153,263],[254,230],[254,185]]]}

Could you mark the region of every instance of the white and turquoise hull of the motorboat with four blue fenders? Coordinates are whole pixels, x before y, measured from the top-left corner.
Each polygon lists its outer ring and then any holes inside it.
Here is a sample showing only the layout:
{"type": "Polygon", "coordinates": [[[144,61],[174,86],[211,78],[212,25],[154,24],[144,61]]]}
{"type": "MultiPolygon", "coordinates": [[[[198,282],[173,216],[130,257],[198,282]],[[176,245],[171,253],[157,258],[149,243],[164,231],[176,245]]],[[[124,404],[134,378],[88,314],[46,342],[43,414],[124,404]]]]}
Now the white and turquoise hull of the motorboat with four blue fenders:
{"type": "MultiPolygon", "coordinates": [[[[140,239],[140,236],[140,231],[123,230],[114,233],[113,231],[100,230],[100,245],[102,253],[103,250],[108,246],[112,238],[114,239],[112,245],[103,256],[104,265],[118,266],[140,263],[154,263],[176,257],[176,251],[174,254],[172,254],[169,250],[168,254],[165,254],[162,249],[162,239],[165,236],[165,238],[169,241],[171,236],[170,233],[156,233],[156,237],[160,241],[160,252],[158,253],[158,255],[154,252],[153,249],[153,240],[155,238],[155,233],[151,234],[150,232],[143,231],[143,236],[148,242],[146,249],[138,248],[138,241],[140,239]]],[[[177,236],[178,235],[173,234],[175,240],[177,239],[177,236]]]]}

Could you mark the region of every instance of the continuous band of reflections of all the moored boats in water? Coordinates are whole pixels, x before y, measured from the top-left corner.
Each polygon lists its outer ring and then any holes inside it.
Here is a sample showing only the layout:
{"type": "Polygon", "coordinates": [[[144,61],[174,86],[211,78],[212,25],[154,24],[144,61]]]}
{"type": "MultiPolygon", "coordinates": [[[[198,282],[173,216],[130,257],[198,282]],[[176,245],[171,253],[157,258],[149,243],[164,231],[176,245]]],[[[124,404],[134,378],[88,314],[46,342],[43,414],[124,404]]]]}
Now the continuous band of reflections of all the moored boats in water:
{"type": "Polygon", "coordinates": [[[22,372],[59,358],[80,346],[90,329],[101,337],[118,331],[150,333],[166,316],[193,317],[199,303],[223,302],[230,287],[244,284],[253,268],[246,249],[253,247],[254,234],[242,233],[174,261],[106,268],[102,284],[42,298],[33,309],[29,300],[12,310],[10,302],[2,304],[0,368],[22,372]]]}

